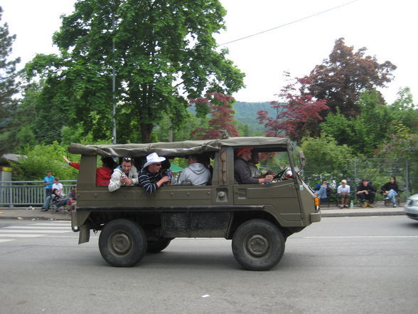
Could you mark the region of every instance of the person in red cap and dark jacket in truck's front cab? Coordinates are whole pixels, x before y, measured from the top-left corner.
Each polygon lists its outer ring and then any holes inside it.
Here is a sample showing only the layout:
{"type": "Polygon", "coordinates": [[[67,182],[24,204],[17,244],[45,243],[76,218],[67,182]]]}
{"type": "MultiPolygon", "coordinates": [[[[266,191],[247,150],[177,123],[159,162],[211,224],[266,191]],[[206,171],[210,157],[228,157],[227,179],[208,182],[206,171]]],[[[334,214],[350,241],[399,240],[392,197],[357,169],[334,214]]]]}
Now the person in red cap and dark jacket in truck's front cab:
{"type": "Polygon", "coordinates": [[[238,184],[263,184],[272,182],[272,174],[267,174],[263,178],[251,177],[251,170],[248,162],[252,159],[252,148],[242,148],[237,151],[237,159],[234,165],[234,177],[238,184]]]}

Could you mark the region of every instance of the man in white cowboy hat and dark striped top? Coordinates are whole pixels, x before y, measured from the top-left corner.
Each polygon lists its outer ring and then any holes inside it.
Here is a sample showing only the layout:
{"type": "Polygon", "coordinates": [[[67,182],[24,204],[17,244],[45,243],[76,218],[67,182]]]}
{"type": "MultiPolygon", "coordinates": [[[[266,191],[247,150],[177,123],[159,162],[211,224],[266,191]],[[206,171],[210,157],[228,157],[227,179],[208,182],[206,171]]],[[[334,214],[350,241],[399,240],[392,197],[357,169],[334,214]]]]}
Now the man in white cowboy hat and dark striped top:
{"type": "Polygon", "coordinates": [[[153,193],[161,187],[165,182],[170,181],[167,176],[161,177],[161,162],[166,160],[165,157],[159,157],[156,152],[146,156],[146,163],[138,174],[139,185],[146,193],[153,193]]]}

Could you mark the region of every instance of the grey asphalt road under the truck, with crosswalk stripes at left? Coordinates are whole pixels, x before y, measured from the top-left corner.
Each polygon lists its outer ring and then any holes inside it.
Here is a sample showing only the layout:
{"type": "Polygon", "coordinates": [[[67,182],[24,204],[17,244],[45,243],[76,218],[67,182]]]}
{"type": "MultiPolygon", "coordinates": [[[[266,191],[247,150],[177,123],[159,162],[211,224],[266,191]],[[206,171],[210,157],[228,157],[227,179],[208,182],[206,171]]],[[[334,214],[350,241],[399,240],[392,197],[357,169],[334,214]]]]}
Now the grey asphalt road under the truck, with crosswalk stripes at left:
{"type": "Polygon", "coordinates": [[[286,242],[271,271],[245,271],[224,239],[175,239],[112,268],[68,221],[0,221],[0,314],[417,313],[418,221],[326,218],[286,242]]]}

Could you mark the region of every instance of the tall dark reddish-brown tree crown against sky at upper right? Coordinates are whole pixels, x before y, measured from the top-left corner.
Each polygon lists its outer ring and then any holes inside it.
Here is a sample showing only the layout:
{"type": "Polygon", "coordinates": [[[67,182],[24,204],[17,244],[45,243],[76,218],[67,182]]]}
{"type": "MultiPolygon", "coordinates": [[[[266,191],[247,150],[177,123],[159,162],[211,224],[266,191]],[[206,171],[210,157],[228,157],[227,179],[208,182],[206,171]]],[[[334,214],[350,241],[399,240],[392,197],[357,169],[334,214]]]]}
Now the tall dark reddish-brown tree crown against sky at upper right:
{"type": "Polygon", "coordinates": [[[338,38],[329,58],[311,71],[309,90],[316,98],[327,100],[331,112],[358,115],[360,94],[392,80],[396,66],[390,61],[378,63],[375,56],[365,56],[365,51],[364,47],[354,51],[353,46],[345,45],[344,38],[338,38]]]}

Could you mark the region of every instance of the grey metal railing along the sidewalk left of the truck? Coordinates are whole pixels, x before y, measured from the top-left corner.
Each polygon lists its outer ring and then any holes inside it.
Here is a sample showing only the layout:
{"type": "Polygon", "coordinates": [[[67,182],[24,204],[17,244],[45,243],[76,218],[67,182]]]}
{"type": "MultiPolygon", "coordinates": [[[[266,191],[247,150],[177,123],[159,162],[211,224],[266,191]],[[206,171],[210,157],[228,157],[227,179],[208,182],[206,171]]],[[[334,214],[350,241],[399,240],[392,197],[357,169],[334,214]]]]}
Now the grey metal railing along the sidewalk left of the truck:
{"type": "MultiPolygon", "coordinates": [[[[76,180],[62,180],[63,194],[75,187],[76,180]]],[[[43,181],[2,181],[0,182],[0,206],[42,205],[46,193],[43,181]]]]}

